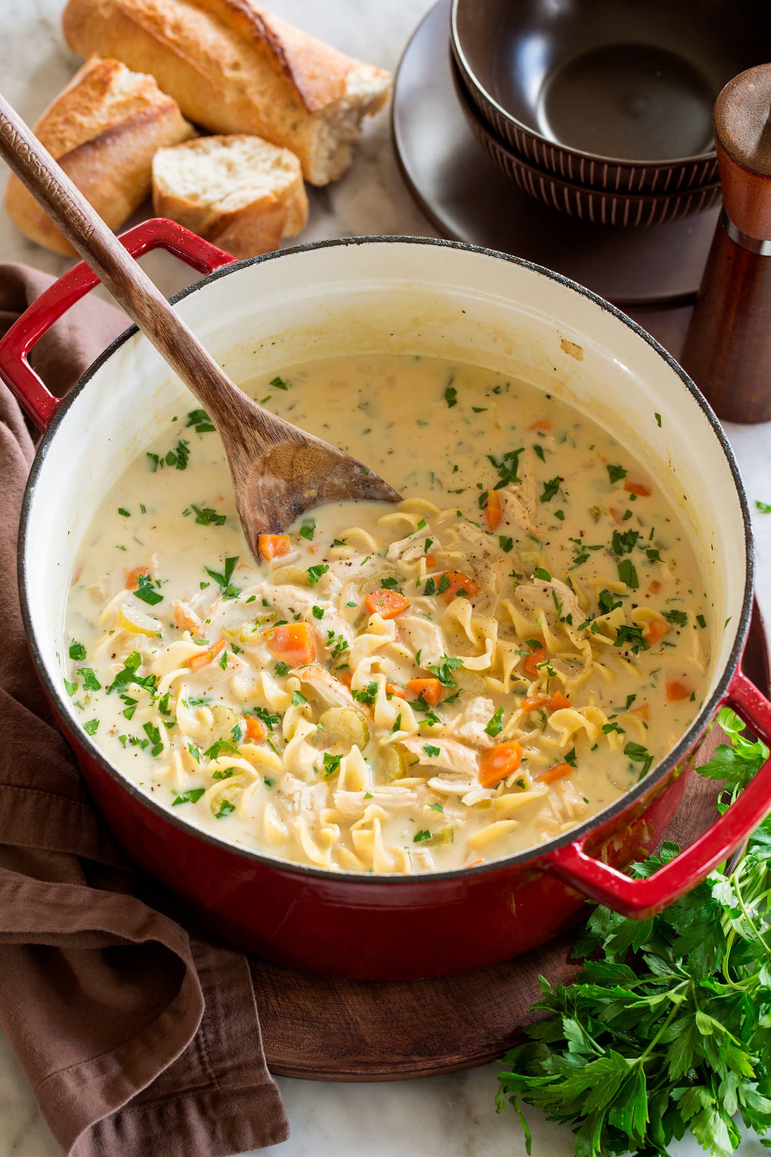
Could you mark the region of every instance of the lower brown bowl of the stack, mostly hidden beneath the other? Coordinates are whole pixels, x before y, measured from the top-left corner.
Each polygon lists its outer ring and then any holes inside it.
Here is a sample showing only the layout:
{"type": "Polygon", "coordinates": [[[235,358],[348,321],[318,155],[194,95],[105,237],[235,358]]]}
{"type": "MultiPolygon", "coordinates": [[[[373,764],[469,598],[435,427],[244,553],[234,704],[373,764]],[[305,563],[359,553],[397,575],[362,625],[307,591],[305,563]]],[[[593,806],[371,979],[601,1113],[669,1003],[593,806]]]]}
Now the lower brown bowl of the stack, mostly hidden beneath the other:
{"type": "Polygon", "coordinates": [[[520,153],[509,148],[482,120],[452,66],[458,101],[477,141],[510,180],[524,192],[544,201],[551,208],[581,221],[609,226],[661,224],[709,209],[720,198],[720,182],[697,187],[670,189],[666,193],[628,193],[615,189],[592,189],[556,177],[548,169],[529,164],[520,153]]]}

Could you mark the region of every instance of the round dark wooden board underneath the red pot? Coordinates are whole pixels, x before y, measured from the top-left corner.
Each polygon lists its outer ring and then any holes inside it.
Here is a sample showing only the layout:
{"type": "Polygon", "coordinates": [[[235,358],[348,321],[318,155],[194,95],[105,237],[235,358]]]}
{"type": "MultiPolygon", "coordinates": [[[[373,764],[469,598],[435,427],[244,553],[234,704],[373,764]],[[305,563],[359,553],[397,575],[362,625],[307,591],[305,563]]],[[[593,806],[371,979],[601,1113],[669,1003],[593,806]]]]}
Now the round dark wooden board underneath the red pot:
{"type": "MultiPolygon", "coordinates": [[[[742,663],[765,693],[769,649],[757,605],[742,663]]],[[[719,742],[713,732],[704,759],[719,742]]],[[[667,838],[691,843],[717,817],[716,787],[694,775],[667,838]]],[[[535,1018],[540,973],[570,983],[576,931],[491,968],[431,980],[316,977],[252,960],[268,1068],[312,1081],[403,1081],[495,1060],[535,1018]]]]}

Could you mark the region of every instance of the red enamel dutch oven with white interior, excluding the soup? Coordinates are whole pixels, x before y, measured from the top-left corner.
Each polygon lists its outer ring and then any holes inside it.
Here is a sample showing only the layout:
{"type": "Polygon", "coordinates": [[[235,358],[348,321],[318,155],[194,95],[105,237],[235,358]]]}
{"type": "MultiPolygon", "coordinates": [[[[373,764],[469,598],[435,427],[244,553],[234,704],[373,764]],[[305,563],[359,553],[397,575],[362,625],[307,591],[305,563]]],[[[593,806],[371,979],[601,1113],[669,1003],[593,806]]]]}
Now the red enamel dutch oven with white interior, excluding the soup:
{"type": "Polygon", "coordinates": [[[771,743],[771,705],[739,670],[753,597],[746,495],[714,414],[672,358],[573,282],[454,243],[353,238],[235,263],[170,221],[149,221],[121,241],[136,257],[162,246],[207,274],[172,300],[236,381],[312,356],[420,352],[527,377],[569,398],[629,441],[682,500],[713,602],[713,675],[697,720],[622,799],[557,839],[475,868],[384,877],[289,863],[199,831],[112,766],[64,693],[64,611],[79,543],[124,466],[190,400],[135,327],[64,401],[46,390],[28,356],[97,283],[75,265],[0,342],[0,376],[44,432],[23,506],[20,591],[39,677],[97,805],[133,858],[233,944],[309,971],[396,979],[527,951],[578,919],[586,898],[645,918],[729,855],[771,806],[771,761],[654,876],[623,871],[666,831],[721,705],[771,743]]]}

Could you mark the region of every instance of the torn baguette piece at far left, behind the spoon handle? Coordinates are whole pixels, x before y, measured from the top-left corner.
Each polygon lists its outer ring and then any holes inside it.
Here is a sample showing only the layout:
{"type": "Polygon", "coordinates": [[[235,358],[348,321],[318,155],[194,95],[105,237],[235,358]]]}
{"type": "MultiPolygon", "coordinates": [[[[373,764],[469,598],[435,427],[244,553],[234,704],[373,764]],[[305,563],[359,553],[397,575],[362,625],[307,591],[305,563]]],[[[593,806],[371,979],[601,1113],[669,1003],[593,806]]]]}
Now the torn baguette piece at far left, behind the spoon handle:
{"type": "MultiPolygon", "coordinates": [[[[177,102],[151,76],[96,58],[75,73],[34,128],[111,229],[150,192],[154,153],[195,135],[177,102]]],[[[15,176],[8,180],[6,209],[39,245],[75,252],[15,176]]]]}

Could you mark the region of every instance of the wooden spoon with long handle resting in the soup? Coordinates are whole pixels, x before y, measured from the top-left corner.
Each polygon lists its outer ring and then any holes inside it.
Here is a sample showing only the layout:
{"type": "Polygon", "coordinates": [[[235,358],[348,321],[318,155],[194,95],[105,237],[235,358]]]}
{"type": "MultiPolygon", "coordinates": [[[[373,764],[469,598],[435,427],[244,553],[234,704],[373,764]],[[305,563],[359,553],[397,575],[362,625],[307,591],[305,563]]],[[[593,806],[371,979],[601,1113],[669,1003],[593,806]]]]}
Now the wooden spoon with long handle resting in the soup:
{"type": "Polygon", "coordinates": [[[230,381],[1,95],[0,154],[210,415],[255,559],[260,535],[286,530],[323,502],[400,501],[361,462],[276,418],[230,381]]]}

